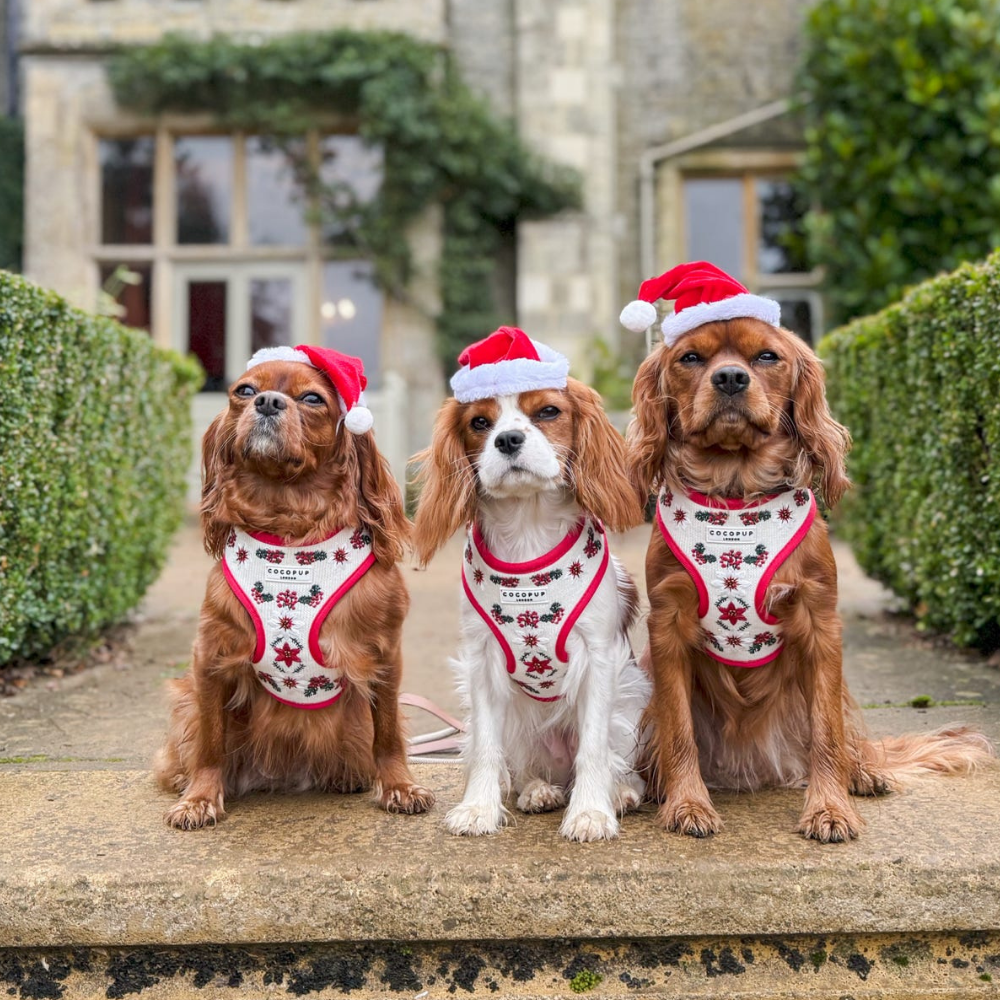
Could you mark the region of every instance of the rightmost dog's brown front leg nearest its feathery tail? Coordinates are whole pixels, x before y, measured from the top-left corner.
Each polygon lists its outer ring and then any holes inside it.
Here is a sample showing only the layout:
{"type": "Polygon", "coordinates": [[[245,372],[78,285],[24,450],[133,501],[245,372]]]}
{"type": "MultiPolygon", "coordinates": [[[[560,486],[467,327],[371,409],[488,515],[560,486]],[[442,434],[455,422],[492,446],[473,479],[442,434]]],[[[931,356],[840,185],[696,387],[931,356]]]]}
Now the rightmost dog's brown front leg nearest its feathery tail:
{"type": "Polygon", "coordinates": [[[844,736],[844,677],[840,619],[833,593],[821,583],[799,584],[783,612],[788,655],[799,665],[809,711],[809,786],[799,833],[824,844],[852,840],[861,817],[848,791],[850,758],[844,736]]]}

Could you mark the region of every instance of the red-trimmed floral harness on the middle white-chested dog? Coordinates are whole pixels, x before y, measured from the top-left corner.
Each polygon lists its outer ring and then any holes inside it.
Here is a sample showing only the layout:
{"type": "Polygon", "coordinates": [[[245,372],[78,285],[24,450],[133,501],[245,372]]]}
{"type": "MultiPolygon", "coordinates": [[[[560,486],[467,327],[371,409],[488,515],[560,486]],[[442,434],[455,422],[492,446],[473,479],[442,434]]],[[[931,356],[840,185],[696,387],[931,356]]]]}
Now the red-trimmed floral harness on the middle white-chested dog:
{"type": "Polygon", "coordinates": [[[608,568],[600,521],[584,517],[550,552],[524,563],[497,559],[478,525],[462,562],[466,596],[500,643],[510,679],[536,701],[563,695],[566,637],[608,568]]]}

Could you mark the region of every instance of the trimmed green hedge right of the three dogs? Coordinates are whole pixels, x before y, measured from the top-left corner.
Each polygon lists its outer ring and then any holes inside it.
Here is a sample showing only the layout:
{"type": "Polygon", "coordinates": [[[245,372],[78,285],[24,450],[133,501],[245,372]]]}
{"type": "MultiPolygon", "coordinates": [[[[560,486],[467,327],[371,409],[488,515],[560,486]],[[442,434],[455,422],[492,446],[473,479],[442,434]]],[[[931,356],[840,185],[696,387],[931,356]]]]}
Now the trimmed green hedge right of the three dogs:
{"type": "Polygon", "coordinates": [[[840,528],[921,627],[1000,646],[1000,254],[820,344],[854,436],[840,528]]]}

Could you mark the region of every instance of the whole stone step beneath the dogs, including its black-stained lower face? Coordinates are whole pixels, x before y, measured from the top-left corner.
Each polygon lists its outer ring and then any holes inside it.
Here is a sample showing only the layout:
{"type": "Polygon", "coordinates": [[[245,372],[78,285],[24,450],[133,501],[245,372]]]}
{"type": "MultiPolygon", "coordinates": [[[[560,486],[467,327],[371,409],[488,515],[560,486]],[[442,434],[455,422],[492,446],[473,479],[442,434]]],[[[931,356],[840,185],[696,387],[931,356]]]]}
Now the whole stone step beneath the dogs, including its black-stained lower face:
{"type": "MultiPolygon", "coordinates": [[[[869,713],[872,728],[898,728],[890,715],[869,713]]],[[[956,710],[920,719],[945,715],[956,710]]],[[[0,768],[0,988],[12,996],[589,986],[860,1000],[995,996],[1000,983],[997,769],[861,800],[862,837],[824,846],[792,832],[799,791],[717,795],[726,828],[709,840],[664,833],[650,806],[611,843],[567,843],[559,814],[455,838],[441,820],[462,774],[447,764],[415,766],[439,793],[426,816],[389,816],[363,795],[259,795],[185,833],[163,824],[172,799],[148,771],[93,766],[0,768]]]]}

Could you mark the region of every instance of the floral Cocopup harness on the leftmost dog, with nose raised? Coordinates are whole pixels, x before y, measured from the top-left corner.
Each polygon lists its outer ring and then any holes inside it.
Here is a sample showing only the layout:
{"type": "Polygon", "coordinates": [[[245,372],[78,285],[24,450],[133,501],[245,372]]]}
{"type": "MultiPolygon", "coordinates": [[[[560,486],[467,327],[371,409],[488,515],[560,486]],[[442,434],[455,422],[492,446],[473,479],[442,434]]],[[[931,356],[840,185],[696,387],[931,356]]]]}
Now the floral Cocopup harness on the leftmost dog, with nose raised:
{"type": "Polygon", "coordinates": [[[253,621],[253,663],[269,695],[296,708],[323,708],[343,694],[340,669],[323,662],[319,632],[374,562],[365,528],[343,528],[312,545],[230,531],[222,572],[253,621]]]}

